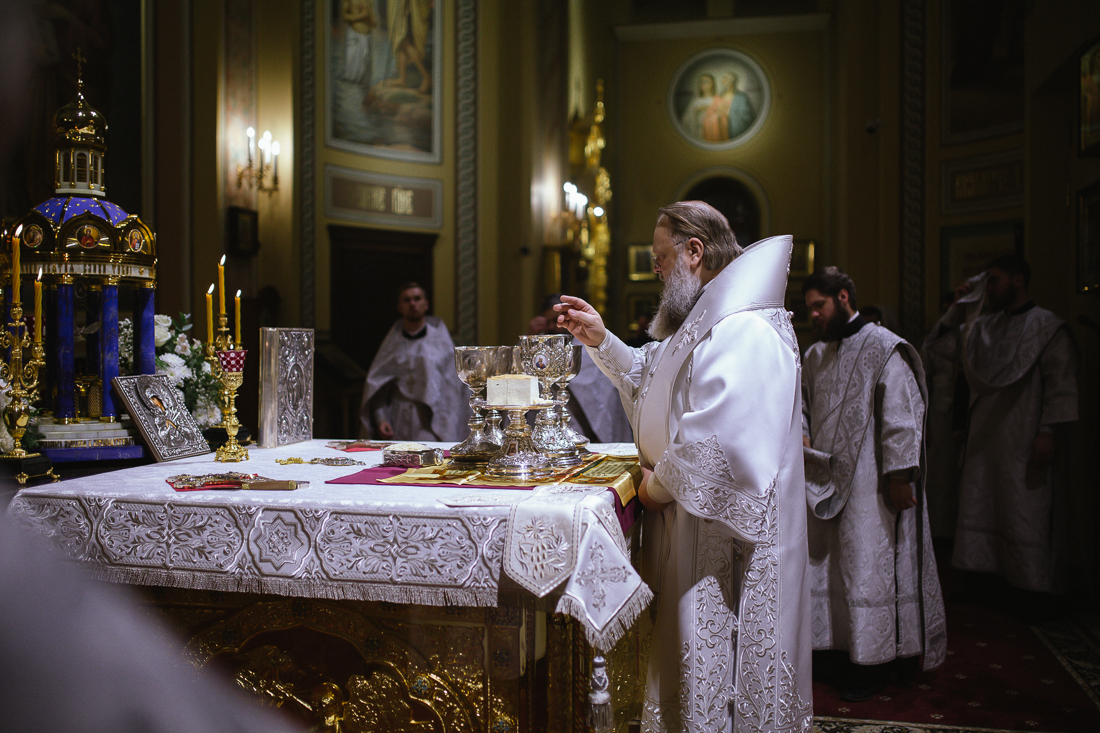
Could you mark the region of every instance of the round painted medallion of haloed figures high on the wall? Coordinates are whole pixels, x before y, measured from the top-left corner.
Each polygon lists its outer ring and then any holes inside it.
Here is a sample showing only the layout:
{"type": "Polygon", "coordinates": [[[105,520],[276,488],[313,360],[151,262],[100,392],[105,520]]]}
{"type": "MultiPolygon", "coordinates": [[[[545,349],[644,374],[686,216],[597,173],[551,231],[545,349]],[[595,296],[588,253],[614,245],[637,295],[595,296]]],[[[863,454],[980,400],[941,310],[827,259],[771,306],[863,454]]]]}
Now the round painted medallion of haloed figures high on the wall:
{"type": "Polygon", "coordinates": [[[748,54],[710,48],[689,58],[669,86],[669,117],[693,145],[728,150],[763,127],[771,84],[748,54]]]}

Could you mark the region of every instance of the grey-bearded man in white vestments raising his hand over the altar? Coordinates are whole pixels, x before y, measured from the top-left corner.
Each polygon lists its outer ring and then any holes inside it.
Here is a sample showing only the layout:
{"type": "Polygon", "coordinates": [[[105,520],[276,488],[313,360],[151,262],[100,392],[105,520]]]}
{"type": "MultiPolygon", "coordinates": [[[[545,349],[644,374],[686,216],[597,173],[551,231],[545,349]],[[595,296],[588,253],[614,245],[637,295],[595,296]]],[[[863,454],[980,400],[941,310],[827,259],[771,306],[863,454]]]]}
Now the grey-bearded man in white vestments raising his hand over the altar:
{"type": "Polygon", "coordinates": [[[702,201],[660,210],[664,281],[632,349],[580,298],[557,306],[619,390],[657,592],[644,731],[812,727],[799,347],[783,308],[791,238],[744,252],[702,201]]]}

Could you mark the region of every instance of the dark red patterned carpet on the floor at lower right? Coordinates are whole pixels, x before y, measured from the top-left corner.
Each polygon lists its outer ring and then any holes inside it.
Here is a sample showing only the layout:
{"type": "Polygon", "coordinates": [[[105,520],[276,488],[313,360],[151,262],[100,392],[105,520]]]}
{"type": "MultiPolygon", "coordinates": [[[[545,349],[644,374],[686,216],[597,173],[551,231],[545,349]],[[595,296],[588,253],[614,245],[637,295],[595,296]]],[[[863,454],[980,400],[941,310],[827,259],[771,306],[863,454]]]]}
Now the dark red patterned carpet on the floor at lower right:
{"type": "Polygon", "coordinates": [[[948,604],[948,659],[867,702],[814,683],[820,733],[1100,731],[1100,619],[1026,626],[987,604],[948,604]]]}

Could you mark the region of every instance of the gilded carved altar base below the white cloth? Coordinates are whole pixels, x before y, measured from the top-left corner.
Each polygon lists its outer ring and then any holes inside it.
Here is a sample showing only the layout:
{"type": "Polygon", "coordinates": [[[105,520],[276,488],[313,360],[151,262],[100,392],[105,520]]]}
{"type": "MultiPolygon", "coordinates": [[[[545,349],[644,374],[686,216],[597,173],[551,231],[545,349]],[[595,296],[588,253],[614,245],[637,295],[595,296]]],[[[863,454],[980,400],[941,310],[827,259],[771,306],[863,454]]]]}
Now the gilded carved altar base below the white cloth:
{"type": "MultiPolygon", "coordinates": [[[[529,597],[497,608],[142,588],[187,659],[318,731],[584,733],[593,650],[529,597]]],[[[607,655],[615,730],[640,716],[644,616],[607,655]]]]}

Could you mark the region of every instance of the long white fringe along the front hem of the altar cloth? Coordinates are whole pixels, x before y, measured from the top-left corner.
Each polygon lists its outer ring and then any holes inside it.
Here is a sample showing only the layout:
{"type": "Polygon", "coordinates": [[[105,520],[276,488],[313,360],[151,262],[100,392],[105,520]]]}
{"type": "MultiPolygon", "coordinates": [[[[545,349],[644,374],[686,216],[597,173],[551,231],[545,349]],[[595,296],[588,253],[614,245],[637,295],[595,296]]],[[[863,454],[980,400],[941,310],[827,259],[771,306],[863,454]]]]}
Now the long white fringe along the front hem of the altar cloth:
{"type": "Polygon", "coordinates": [[[324,582],[283,578],[241,578],[231,575],[180,573],[172,570],[87,567],[96,580],[131,586],[161,586],[190,590],[229,593],[270,593],[297,595],[330,601],[382,601],[413,605],[495,606],[499,592],[495,588],[408,588],[407,586],[324,582]]]}

